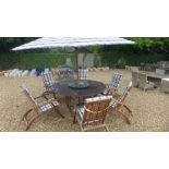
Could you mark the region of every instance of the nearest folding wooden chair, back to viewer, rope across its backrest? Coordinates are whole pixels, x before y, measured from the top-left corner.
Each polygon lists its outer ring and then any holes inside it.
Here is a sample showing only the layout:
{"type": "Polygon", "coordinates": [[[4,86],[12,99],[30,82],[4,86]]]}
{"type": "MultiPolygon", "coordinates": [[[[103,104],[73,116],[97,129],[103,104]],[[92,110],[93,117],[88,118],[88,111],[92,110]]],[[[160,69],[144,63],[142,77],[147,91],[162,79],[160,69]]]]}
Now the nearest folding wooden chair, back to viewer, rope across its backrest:
{"type": "Polygon", "coordinates": [[[104,128],[109,131],[105,124],[105,118],[109,110],[111,96],[100,96],[85,99],[83,106],[74,109],[74,122],[77,120],[81,131],[89,131],[104,128]]]}

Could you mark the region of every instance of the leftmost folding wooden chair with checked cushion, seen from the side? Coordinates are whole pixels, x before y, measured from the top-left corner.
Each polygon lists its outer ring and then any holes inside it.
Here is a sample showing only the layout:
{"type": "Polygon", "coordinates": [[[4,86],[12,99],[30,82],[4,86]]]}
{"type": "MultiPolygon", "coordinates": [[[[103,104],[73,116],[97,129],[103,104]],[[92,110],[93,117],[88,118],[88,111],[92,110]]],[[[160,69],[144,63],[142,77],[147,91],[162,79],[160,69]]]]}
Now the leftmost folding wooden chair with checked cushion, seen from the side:
{"type": "Polygon", "coordinates": [[[33,108],[31,108],[29,110],[27,110],[24,116],[23,116],[23,120],[25,122],[25,125],[26,125],[26,131],[31,128],[32,123],[38,119],[41,114],[44,113],[47,113],[51,110],[55,110],[57,111],[62,118],[64,118],[61,112],[59,111],[58,109],[58,106],[60,105],[58,102],[57,99],[48,99],[46,100],[44,98],[44,96],[38,96],[38,97],[34,97],[32,95],[32,93],[27,89],[27,87],[25,85],[22,85],[21,86],[22,89],[23,89],[23,93],[25,94],[25,96],[28,98],[28,100],[32,102],[33,105],[33,108]],[[37,100],[38,99],[45,99],[44,101],[41,102],[38,102],[37,100]],[[33,112],[34,111],[34,112],[33,112]],[[28,114],[31,114],[32,112],[32,118],[28,118],[28,114]]]}

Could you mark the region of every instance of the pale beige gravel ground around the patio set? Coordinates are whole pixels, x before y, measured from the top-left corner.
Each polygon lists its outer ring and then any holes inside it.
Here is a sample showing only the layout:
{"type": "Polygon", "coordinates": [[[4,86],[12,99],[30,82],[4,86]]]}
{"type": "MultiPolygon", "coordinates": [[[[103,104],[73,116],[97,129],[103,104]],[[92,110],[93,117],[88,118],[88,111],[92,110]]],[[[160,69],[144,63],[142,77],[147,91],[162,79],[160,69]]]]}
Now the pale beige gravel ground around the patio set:
{"type": "MultiPolygon", "coordinates": [[[[109,83],[113,72],[123,74],[120,92],[131,81],[131,73],[122,70],[108,72],[90,72],[90,79],[109,83]]],[[[45,88],[40,77],[3,77],[0,76],[0,131],[24,131],[21,120],[23,113],[31,108],[31,104],[21,92],[20,85],[25,83],[35,96],[40,95],[45,88]]],[[[133,87],[126,98],[126,105],[133,112],[131,125],[126,124],[123,117],[116,111],[110,111],[106,123],[110,131],[119,132],[143,132],[143,131],[169,131],[169,94],[161,93],[159,88],[144,92],[133,87]]],[[[65,105],[60,107],[65,116],[61,119],[56,112],[41,116],[37,119],[29,131],[80,131],[79,124],[73,124],[73,118],[65,105]]]]}

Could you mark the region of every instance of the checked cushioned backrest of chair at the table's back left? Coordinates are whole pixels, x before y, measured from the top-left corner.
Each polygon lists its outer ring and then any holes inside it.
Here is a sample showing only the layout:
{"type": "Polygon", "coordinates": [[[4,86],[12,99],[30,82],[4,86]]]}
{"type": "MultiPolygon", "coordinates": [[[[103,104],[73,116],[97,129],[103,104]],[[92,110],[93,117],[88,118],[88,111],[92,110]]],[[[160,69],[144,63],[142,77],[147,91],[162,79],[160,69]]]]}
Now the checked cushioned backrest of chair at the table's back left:
{"type": "Polygon", "coordinates": [[[52,90],[53,84],[57,83],[51,72],[43,73],[43,82],[46,90],[49,92],[52,90]]]}

